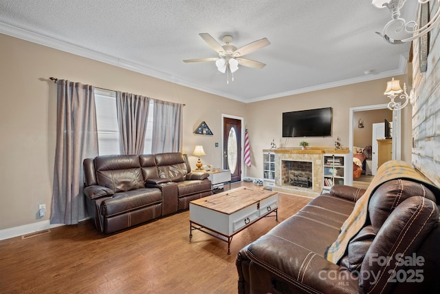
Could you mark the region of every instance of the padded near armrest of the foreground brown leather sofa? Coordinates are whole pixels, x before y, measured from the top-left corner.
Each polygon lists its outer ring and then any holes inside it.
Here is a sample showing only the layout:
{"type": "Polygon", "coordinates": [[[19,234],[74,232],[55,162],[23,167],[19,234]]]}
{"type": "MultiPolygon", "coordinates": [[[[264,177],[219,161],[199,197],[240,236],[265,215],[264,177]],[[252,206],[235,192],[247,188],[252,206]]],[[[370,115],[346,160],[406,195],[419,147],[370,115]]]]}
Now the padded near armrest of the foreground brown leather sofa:
{"type": "MultiPolygon", "coordinates": [[[[276,277],[280,277],[280,281],[287,280],[299,289],[314,289],[320,293],[358,293],[360,291],[358,277],[347,268],[333,264],[318,253],[275,235],[265,235],[241,249],[237,260],[246,259],[258,264],[259,269],[265,269],[271,273],[270,280],[263,282],[266,286],[266,283],[276,284],[274,283],[277,280],[276,277]]],[[[249,263],[245,262],[245,264],[249,263]]],[[[267,277],[267,275],[259,273],[259,277],[248,278],[252,281],[252,278],[258,280],[260,277],[267,277]]],[[[295,292],[293,289],[290,291],[295,292]]]]}

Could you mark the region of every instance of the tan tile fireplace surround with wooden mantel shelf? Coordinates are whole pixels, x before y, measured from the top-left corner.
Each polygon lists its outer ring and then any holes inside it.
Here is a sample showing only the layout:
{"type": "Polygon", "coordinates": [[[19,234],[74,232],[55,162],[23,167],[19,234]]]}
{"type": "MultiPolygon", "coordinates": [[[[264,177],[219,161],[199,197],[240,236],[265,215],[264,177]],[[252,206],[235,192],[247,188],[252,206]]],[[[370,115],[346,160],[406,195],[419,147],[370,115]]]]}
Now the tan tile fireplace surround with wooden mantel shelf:
{"type": "Polygon", "coordinates": [[[322,191],[322,157],[324,154],[348,154],[348,148],[335,150],[334,147],[278,148],[270,151],[275,154],[275,185],[274,191],[294,193],[303,196],[316,197],[322,191]],[[311,165],[310,163],[311,162],[311,165]],[[310,169],[311,166],[311,170],[310,169]],[[287,171],[287,167],[300,167],[299,171],[287,171]],[[311,187],[290,185],[292,175],[307,177],[311,187]]]}

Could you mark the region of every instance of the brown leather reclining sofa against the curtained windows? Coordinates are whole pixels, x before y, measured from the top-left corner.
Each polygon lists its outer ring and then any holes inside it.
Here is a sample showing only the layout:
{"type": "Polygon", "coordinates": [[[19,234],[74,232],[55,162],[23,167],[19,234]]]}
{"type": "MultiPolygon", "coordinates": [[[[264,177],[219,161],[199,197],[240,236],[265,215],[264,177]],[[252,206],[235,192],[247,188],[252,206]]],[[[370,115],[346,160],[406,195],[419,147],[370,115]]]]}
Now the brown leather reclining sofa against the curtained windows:
{"type": "Polygon", "coordinates": [[[112,233],[188,209],[212,193],[208,174],[191,171],[186,154],[111,155],[83,162],[87,211],[112,233]]]}

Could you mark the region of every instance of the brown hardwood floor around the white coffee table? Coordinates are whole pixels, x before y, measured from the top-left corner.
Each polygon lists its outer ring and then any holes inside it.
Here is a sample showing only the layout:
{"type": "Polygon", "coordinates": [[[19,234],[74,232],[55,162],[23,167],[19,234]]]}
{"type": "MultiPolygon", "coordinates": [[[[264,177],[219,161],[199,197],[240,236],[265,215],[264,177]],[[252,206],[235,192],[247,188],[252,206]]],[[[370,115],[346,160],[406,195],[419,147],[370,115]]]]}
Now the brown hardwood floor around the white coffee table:
{"type": "MultiPolygon", "coordinates": [[[[252,183],[232,184],[232,188],[252,183]]],[[[311,198],[279,193],[278,222],[311,198]]],[[[0,241],[1,293],[236,293],[236,254],[276,226],[264,218],[228,244],[193,231],[189,211],[104,235],[87,220],[0,241]]]]}

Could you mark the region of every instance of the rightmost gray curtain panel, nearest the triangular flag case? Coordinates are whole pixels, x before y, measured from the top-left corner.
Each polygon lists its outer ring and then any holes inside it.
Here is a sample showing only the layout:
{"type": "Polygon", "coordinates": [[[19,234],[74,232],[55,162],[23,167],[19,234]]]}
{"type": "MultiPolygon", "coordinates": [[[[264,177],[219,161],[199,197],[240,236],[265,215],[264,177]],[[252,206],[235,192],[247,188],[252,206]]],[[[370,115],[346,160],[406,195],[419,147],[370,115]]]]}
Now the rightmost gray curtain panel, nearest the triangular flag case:
{"type": "Polygon", "coordinates": [[[181,151],[183,108],[179,103],[154,100],[152,154],[181,151]]]}

